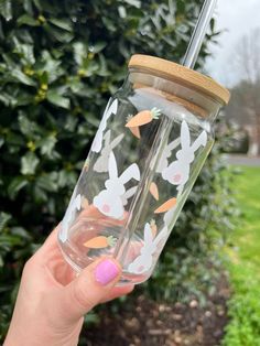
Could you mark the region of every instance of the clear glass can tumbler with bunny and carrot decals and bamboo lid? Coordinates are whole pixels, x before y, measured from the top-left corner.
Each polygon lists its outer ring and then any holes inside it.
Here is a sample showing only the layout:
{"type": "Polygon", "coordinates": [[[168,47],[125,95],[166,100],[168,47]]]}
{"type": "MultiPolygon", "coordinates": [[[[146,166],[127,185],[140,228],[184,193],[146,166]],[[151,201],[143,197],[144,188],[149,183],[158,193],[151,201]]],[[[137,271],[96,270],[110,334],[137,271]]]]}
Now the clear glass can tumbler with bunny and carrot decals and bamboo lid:
{"type": "Polygon", "coordinates": [[[152,273],[213,147],[213,122],[229,100],[213,79],[133,55],[109,100],[62,221],[65,259],[80,271],[102,256],[122,264],[119,284],[152,273]]]}

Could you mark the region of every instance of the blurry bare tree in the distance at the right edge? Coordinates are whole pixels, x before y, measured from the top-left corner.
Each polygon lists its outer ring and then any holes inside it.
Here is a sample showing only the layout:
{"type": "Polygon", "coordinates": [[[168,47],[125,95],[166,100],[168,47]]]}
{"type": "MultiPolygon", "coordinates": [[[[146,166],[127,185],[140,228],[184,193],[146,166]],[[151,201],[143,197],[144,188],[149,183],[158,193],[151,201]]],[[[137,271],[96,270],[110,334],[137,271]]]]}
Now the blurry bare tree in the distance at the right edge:
{"type": "Polygon", "coordinates": [[[231,90],[228,119],[245,127],[250,136],[249,154],[260,154],[260,28],[241,37],[235,50],[235,66],[242,80],[231,90]]]}

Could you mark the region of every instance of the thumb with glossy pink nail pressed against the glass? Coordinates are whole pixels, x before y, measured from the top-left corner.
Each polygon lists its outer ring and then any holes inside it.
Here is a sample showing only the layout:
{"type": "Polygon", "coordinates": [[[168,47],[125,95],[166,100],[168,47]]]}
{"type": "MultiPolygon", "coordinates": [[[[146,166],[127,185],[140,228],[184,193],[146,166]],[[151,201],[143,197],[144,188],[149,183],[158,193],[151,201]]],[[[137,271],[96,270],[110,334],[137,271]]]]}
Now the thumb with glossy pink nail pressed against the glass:
{"type": "MultiPolygon", "coordinates": [[[[62,303],[64,318],[76,322],[100,301],[105,300],[121,275],[120,264],[112,258],[102,258],[85,268],[64,288],[62,303]]],[[[65,321],[64,321],[65,322],[65,321]]]]}

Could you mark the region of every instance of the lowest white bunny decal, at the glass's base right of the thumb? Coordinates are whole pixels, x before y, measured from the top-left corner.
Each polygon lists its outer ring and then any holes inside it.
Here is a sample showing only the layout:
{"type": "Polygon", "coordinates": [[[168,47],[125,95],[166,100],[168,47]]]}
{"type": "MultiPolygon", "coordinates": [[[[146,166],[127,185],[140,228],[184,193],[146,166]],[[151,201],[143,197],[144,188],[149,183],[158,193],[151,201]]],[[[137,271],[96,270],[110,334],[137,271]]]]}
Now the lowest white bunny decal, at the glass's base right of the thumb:
{"type": "Polygon", "coordinates": [[[141,255],[128,266],[128,270],[134,274],[142,274],[149,271],[153,264],[153,255],[162,249],[163,244],[160,247],[159,245],[162,240],[165,240],[166,236],[167,227],[165,226],[153,239],[151,226],[147,223],[144,226],[144,241],[141,255]]]}

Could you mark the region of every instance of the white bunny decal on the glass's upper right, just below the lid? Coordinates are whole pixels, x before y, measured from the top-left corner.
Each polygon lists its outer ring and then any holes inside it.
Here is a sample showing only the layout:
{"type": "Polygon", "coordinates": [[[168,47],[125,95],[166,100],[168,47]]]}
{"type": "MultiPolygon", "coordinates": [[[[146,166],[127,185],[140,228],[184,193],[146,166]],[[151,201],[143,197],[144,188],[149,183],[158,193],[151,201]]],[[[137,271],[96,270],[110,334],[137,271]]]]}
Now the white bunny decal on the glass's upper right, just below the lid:
{"type": "Polygon", "coordinates": [[[183,188],[188,181],[189,165],[194,161],[194,152],[199,147],[205,147],[207,143],[207,133],[203,131],[191,145],[191,134],[185,120],[181,127],[181,145],[182,149],[176,153],[176,161],[172,162],[162,171],[162,177],[173,185],[177,185],[177,190],[183,188]]]}

